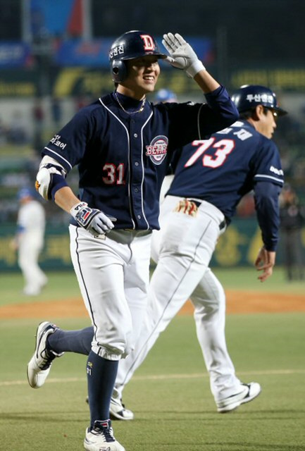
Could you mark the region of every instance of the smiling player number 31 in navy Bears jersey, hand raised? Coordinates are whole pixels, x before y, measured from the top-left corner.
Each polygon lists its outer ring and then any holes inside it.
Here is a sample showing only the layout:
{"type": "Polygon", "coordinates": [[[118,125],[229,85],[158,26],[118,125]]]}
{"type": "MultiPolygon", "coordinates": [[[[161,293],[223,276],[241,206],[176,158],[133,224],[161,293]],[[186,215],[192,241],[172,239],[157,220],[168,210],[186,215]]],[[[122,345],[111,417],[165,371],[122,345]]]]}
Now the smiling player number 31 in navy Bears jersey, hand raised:
{"type": "MultiPolygon", "coordinates": [[[[80,110],[51,139],[37,174],[39,193],[72,216],[71,257],[94,328],[87,360],[91,421],[84,446],[89,451],[124,450],[113,436],[109,405],[118,362],[133,349],[146,309],[151,233],[159,228],[158,198],[170,155],[238,117],[228,92],[180,35],[167,33],[163,45],[168,56],[143,31],[126,32],[113,42],[109,60],[116,89],[80,110]],[[194,78],[207,104],[150,104],[146,94],[154,92],[159,59],[194,78]],[[75,165],[78,198],[65,178],[75,165]]],[[[61,345],[70,345],[71,334],[57,340],[61,334],[55,332],[47,321],[37,329],[27,366],[33,388],[43,385],[61,345]]],[[[75,333],[75,352],[82,351],[86,337],[86,330],[75,333]]]]}

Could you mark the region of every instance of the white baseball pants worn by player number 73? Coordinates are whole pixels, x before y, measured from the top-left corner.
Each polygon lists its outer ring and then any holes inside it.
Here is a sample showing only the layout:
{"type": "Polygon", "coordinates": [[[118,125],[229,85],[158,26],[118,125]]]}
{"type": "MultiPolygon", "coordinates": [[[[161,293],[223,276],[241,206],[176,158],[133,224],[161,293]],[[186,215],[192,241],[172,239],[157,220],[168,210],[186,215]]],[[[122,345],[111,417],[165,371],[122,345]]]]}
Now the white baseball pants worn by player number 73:
{"type": "Polygon", "coordinates": [[[161,204],[161,230],[152,240],[152,257],[158,264],[149,286],[147,313],[135,350],[119,364],[117,396],[189,297],[215,400],[240,390],[225,343],[225,293],[208,268],[218,237],[225,230],[220,230],[224,216],[208,202],[201,202],[197,216],[174,211],[181,200],[167,196],[161,204]]]}

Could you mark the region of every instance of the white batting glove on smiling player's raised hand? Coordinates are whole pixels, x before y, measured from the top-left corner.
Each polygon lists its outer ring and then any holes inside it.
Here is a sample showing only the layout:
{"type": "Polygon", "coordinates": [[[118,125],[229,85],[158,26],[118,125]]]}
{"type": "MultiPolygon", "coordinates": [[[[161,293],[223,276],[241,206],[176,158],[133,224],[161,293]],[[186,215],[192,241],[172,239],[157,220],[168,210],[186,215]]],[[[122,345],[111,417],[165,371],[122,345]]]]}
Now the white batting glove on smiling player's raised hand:
{"type": "Polygon", "coordinates": [[[192,47],[178,33],[163,35],[162,44],[170,54],[167,61],[174,68],[185,70],[189,77],[194,77],[200,70],[206,70],[192,47]]]}

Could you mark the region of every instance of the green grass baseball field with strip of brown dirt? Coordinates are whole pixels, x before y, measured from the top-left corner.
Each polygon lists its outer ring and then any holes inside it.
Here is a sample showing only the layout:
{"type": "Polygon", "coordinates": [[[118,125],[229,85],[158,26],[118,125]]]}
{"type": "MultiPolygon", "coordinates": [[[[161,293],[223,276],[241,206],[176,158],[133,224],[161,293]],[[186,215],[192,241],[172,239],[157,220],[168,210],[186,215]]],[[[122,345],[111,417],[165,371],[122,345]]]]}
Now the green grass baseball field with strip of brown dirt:
{"type": "MultiPolygon", "coordinates": [[[[259,283],[254,269],[218,270],[228,298],[227,341],[237,376],[262,392],[218,414],[186,304],[125,389],[134,421],[113,422],[126,451],[305,451],[305,282],[282,268],[259,283]]],[[[89,412],[86,358],[56,359],[44,387],[27,384],[40,321],[89,325],[73,273],[49,273],[39,299],[18,273],[1,274],[0,450],[82,450],[89,412]]]]}

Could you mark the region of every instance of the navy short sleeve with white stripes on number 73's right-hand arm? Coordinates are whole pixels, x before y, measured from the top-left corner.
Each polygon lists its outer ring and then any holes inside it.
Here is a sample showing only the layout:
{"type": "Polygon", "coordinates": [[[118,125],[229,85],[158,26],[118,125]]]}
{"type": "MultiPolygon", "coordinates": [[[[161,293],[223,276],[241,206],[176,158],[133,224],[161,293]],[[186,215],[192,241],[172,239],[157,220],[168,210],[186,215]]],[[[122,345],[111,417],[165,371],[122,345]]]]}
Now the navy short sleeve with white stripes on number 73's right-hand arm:
{"type": "Polygon", "coordinates": [[[254,154],[252,163],[254,165],[254,183],[272,182],[282,187],[284,184],[284,172],[280,162],[278,147],[272,140],[261,137],[262,145],[259,153],[254,154]]]}

